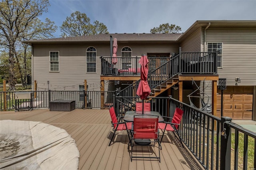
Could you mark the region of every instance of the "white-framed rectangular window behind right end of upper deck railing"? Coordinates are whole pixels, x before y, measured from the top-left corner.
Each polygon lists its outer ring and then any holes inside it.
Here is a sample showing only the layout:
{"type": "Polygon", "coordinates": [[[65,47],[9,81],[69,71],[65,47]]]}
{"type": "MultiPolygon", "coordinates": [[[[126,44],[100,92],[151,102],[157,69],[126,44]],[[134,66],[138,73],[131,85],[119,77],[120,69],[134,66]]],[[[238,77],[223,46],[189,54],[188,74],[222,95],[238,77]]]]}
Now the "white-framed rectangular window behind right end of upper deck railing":
{"type": "Polygon", "coordinates": [[[222,43],[221,42],[207,43],[207,51],[208,52],[217,51],[217,66],[222,67],[222,43]]]}

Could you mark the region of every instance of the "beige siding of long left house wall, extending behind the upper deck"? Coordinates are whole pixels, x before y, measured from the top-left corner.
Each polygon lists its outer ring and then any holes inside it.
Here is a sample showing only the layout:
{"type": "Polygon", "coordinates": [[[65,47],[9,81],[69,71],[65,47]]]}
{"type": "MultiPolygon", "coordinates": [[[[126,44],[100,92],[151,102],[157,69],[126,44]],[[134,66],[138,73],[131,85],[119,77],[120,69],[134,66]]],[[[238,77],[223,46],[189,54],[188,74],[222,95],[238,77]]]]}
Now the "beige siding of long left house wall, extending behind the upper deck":
{"type": "MultiPolygon", "coordinates": [[[[132,49],[132,56],[141,53],[178,53],[178,43],[118,43],[117,56],[120,57],[122,47],[132,49]],[[141,45],[143,44],[143,45],[141,45]]],[[[101,60],[100,56],[110,57],[109,43],[69,43],[51,45],[33,45],[34,69],[33,81],[36,80],[38,90],[78,90],[78,85],[87,81],[88,90],[100,91],[101,60]],[[97,50],[96,73],[86,73],[86,49],[97,50]],[[49,51],[59,51],[59,72],[49,72],[49,51]]],[[[106,83],[105,90],[112,91],[113,86],[106,83]]]]}

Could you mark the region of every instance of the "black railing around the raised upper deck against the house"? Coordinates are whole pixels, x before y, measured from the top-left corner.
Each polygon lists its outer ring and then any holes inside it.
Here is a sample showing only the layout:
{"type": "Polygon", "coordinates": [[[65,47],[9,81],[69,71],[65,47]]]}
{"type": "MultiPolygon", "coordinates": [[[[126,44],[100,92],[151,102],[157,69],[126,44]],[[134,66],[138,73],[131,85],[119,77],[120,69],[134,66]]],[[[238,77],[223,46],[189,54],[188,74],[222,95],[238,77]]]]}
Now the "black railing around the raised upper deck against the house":
{"type": "MultiPolygon", "coordinates": [[[[148,57],[148,69],[156,71],[156,74],[215,74],[217,73],[216,52],[180,52],[174,57],[148,57]],[[177,60],[172,60],[177,58],[177,60]],[[172,60],[170,67],[166,62],[172,60]]],[[[101,58],[102,75],[140,75],[140,57],[116,57],[113,63],[112,57],[101,58]]]]}

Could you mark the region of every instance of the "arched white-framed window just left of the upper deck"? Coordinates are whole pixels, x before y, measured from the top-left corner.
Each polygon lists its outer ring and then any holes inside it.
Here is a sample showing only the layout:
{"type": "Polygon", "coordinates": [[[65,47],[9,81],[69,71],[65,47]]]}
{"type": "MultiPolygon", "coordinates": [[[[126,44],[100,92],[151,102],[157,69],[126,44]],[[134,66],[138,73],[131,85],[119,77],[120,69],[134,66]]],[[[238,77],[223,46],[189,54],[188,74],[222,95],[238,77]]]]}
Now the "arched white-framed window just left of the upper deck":
{"type": "Polygon", "coordinates": [[[96,48],[88,47],[86,50],[87,72],[96,73],[96,56],[97,56],[96,48]]]}

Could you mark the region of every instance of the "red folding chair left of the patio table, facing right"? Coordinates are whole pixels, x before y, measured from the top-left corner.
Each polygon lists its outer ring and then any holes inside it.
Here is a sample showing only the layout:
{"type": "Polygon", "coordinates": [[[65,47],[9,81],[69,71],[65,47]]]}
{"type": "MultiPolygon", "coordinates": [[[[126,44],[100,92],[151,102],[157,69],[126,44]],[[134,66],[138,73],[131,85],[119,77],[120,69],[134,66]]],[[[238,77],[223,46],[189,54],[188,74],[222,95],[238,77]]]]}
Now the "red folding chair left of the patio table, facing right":
{"type": "Polygon", "coordinates": [[[113,128],[113,131],[114,133],[112,134],[111,138],[110,138],[110,142],[108,144],[108,146],[110,146],[115,134],[116,131],[119,131],[119,130],[127,130],[127,133],[128,133],[128,138],[129,138],[129,141],[130,141],[130,136],[129,136],[129,132],[128,130],[131,130],[132,129],[132,122],[130,123],[126,123],[126,122],[118,122],[117,121],[117,117],[116,117],[116,113],[115,113],[115,109],[114,107],[111,107],[109,109],[109,113],[110,113],[110,116],[111,116],[111,123],[112,123],[112,126],[114,127],[113,128]]]}

